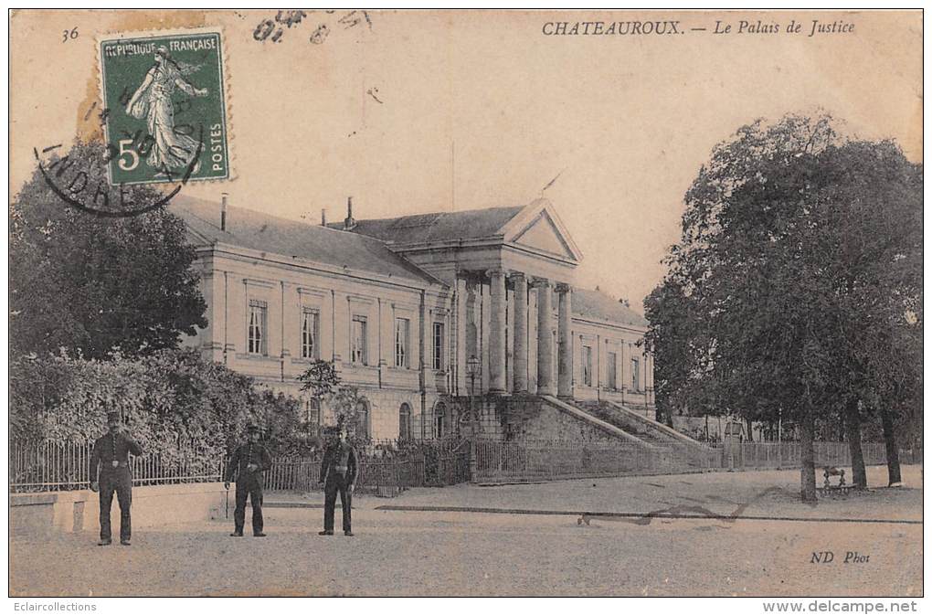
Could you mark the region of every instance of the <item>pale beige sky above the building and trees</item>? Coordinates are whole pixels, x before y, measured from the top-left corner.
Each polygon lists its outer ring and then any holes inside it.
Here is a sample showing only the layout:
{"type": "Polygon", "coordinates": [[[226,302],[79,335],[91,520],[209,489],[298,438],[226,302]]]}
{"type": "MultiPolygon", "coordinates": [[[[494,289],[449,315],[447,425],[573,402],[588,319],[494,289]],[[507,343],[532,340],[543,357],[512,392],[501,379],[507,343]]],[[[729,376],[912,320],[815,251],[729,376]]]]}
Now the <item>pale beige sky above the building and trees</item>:
{"type": "Polygon", "coordinates": [[[755,118],[822,109],[922,159],[919,11],[370,11],[349,25],[361,15],[341,9],[256,40],[276,12],[14,14],[11,197],[33,147],[91,130],[98,37],[199,25],[223,29],[234,177],[185,194],[228,192],[233,205],[309,224],[322,208],[342,219],[348,196],[361,219],[542,194],[583,252],[577,284],[638,309],[663,279],[696,173],[755,118]],[[683,34],[543,34],[548,22],[634,20],[676,20],[683,34]],[[742,20],[780,32],[738,33],[742,20]],[[786,32],[791,20],[800,34],[786,32]],[[813,20],[854,29],[809,36],[813,20]],[[715,34],[717,21],[732,31],[715,34]]]}

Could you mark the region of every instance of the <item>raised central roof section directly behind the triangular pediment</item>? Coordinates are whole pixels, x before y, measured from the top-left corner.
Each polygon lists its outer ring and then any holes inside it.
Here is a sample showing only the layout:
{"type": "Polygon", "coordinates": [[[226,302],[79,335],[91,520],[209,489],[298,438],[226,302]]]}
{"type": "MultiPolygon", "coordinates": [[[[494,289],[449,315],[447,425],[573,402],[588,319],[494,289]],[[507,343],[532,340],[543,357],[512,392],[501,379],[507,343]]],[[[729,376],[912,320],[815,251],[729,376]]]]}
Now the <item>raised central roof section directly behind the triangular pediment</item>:
{"type": "MultiPolygon", "coordinates": [[[[357,220],[356,226],[350,230],[396,244],[483,239],[498,235],[500,228],[523,209],[523,206],[494,207],[467,212],[418,213],[400,218],[357,220]]],[[[343,223],[328,226],[343,228],[343,223]]]]}

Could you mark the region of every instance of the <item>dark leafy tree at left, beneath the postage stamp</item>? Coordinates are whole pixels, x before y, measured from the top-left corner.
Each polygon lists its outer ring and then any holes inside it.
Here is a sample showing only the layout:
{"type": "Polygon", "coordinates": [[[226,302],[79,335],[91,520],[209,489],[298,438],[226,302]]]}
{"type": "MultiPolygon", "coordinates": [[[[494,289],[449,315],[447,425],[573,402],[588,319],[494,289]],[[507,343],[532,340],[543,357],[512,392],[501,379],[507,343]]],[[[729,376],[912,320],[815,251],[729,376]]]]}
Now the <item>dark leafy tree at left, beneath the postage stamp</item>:
{"type": "MultiPolygon", "coordinates": [[[[104,155],[101,144],[75,144],[60,169],[97,169],[104,155]]],[[[140,207],[163,198],[148,186],[124,190],[140,207]]],[[[165,207],[94,215],[67,204],[37,170],[10,206],[9,250],[14,353],[173,348],[206,325],[196,254],[165,207]]]]}

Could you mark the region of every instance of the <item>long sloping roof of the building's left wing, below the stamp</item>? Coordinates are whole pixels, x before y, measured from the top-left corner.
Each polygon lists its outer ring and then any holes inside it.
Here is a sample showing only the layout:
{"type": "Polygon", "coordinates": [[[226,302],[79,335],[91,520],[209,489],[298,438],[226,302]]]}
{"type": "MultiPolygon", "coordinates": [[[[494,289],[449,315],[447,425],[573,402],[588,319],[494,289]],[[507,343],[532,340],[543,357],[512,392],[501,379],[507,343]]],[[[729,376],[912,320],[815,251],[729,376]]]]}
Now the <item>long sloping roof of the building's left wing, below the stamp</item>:
{"type": "Polygon", "coordinates": [[[169,210],[185,220],[195,235],[209,242],[406,280],[442,283],[404,256],[391,252],[382,241],[364,235],[232,206],[226,208],[226,231],[222,231],[219,202],[181,195],[171,199],[169,210]]]}

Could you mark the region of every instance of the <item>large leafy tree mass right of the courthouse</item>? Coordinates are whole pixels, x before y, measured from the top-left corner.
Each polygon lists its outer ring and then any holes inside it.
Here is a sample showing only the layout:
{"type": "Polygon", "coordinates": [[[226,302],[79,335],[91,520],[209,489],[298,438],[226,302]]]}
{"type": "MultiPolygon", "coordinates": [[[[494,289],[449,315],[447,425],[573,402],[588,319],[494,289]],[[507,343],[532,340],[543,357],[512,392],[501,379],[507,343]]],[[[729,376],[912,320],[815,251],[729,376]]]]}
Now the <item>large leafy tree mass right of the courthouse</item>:
{"type": "MultiPolygon", "coordinates": [[[[921,314],[920,177],[894,144],[844,140],[827,116],[786,116],[718,145],[687,192],[681,242],[651,295],[682,298],[647,306],[689,306],[678,343],[699,351],[674,355],[684,364],[669,371],[709,403],[795,423],[803,499],[815,499],[820,421],[843,421],[866,485],[861,421],[889,384],[884,358],[906,351],[881,348],[892,334],[878,327],[921,314]]],[[[675,318],[651,316],[655,347],[668,346],[675,318]]]]}

